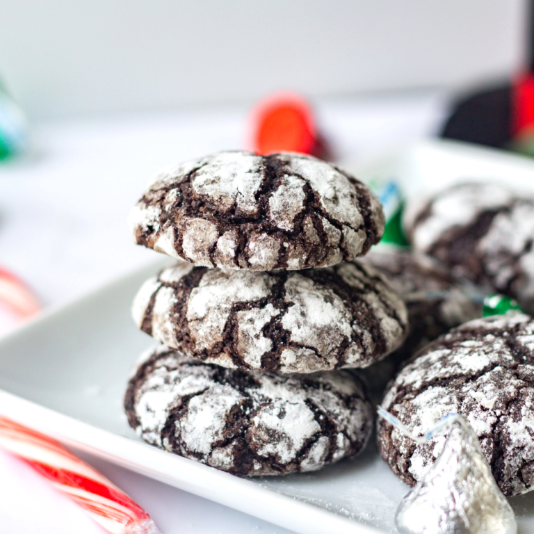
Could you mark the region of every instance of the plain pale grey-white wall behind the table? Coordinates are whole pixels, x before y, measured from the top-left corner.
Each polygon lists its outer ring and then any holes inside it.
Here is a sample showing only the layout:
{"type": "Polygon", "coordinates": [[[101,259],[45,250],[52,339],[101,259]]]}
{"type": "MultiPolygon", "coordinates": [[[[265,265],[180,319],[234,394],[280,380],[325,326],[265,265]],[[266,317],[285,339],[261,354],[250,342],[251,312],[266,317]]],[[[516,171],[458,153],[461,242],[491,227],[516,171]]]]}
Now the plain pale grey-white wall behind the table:
{"type": "Polygon", "coordinates": [[[525,56],[526,0],[0,0],[31,118],[459,87],[525,56]]]}

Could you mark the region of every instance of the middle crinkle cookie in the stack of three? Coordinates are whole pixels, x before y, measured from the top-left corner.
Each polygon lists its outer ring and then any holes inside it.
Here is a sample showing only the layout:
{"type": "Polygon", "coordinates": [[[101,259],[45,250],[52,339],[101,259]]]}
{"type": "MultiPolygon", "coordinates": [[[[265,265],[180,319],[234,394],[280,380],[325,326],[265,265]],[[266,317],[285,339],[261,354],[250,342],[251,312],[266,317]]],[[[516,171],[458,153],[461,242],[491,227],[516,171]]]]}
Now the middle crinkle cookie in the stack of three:
{"type": "Polygon", "coordinates": [[[141,330],[188,356],[279,373],[367,366],[407,332],[401,298],[356,262],[267,273],[181,263],[143,284],[132,314],[141,330]]]}

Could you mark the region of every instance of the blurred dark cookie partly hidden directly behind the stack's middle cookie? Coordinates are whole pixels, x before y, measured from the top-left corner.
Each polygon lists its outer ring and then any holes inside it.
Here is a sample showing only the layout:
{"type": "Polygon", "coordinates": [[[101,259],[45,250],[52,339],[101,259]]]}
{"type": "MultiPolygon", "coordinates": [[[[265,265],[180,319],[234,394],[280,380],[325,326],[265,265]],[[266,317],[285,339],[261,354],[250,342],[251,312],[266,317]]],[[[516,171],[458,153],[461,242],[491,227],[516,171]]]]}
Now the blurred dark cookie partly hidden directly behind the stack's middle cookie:
{"type": "Polygon", "coordinates": [[[391,355],[398,362],[451,328],[482,314],[482,304],[469,298],[460,282],[428,256],[391,250],[370,252],[362,261],[387,278],[408,310],[408,336],[391,355]]]}

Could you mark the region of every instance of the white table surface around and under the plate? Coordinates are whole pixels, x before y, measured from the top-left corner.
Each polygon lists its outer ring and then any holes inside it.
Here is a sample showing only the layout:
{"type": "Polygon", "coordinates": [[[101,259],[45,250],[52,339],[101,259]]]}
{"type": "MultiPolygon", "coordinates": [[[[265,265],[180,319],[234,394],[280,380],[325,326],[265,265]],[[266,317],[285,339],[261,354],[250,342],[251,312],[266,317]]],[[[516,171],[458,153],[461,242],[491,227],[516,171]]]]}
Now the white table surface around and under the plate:
{"type": "MultiPolygon", "coordinates": [[[[318,102],[338,159],[369,159],[435,133],[437,92],[318,102]]],[[[0,162],[0,266],[26,280],[44,305],[72,300],[154,258],[133,245],[130,207],[165,166],[247,147],[245,108],[34,124],[28,154],[0,162]]],[[[86,458],[129,493],[163,534],[283,534],[284,528],[86,458]]],[[[102,534],[76,505],[0,452],[0,532],[102,534]]]]}

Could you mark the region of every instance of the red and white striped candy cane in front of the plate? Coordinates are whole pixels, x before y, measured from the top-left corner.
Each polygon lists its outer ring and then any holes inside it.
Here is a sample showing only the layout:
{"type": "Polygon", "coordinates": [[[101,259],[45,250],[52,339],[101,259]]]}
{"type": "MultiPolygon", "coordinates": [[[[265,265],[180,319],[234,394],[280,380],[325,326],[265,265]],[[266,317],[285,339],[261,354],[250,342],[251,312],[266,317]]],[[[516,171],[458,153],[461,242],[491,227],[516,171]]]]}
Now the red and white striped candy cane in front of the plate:
{"type": "Polygon", "coordinates": [[[0,447],[47,478],[109,533],[159,534],[143,508],[54,439],[0,416],[0,447]]]}

